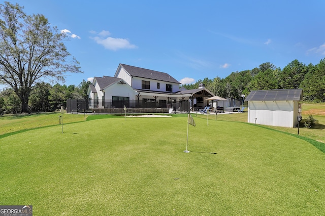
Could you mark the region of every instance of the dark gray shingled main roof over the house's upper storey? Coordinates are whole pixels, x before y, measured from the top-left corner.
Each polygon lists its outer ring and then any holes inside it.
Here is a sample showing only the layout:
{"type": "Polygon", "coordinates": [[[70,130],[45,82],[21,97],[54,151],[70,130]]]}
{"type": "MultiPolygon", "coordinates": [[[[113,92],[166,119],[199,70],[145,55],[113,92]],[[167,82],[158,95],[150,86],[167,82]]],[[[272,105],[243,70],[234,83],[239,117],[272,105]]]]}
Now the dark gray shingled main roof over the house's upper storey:
{"type": "Polygon", "coordinates": [[[159,72],[155,70],[149,70],[141,67],[135,67],[125,64],[120,64],[131,76],[141,77],[141,78],[148,78],[148,79],[155,79],[159,81],[167,81],[167,82],[174,82],[177,84],[181,84],[177,81],[174,77],[169,75],[168,73],[159,72]]]}

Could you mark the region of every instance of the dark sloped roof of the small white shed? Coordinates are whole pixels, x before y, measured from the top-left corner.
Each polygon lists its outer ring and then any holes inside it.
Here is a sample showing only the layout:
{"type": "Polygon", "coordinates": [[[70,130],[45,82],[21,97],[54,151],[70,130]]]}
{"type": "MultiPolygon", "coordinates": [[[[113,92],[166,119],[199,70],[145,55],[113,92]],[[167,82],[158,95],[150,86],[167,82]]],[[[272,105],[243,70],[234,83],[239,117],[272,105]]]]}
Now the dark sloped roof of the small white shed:
{"type": "Polygon", "coordinates": [[[301,101],[302,89],[276,89],[251,91],[245,101],[301,101]]]}

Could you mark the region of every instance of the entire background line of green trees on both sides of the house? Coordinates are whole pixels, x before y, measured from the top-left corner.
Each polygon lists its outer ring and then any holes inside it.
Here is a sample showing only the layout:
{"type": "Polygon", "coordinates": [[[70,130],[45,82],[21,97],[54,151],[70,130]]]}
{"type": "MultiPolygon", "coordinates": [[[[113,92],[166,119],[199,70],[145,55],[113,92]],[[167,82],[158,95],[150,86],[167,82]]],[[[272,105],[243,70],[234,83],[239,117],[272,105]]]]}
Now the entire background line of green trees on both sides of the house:
{"type": "MultiPolygon", "coordinates": [[[[183,84],[186,89],[198,89],[204,83],[213,94],[223,98],[240,99],[253,90],[303,89],[303,100],[325,102],[325,59],[316,65],[305,65],[298,60],[283,69],[267,62],[252,70],[232,72],[225,78],[204,78],[193,84],[183,84]]],[[[78,86],[38,82],[29,96],[28,109],[32,112],[49,112],[66,107],[68,99],[87,99],[91,82],[82,80],[78,86]]],[[[21,101],[12,88],[0,92],[0,113],[21,112],[21,101]]]]}

